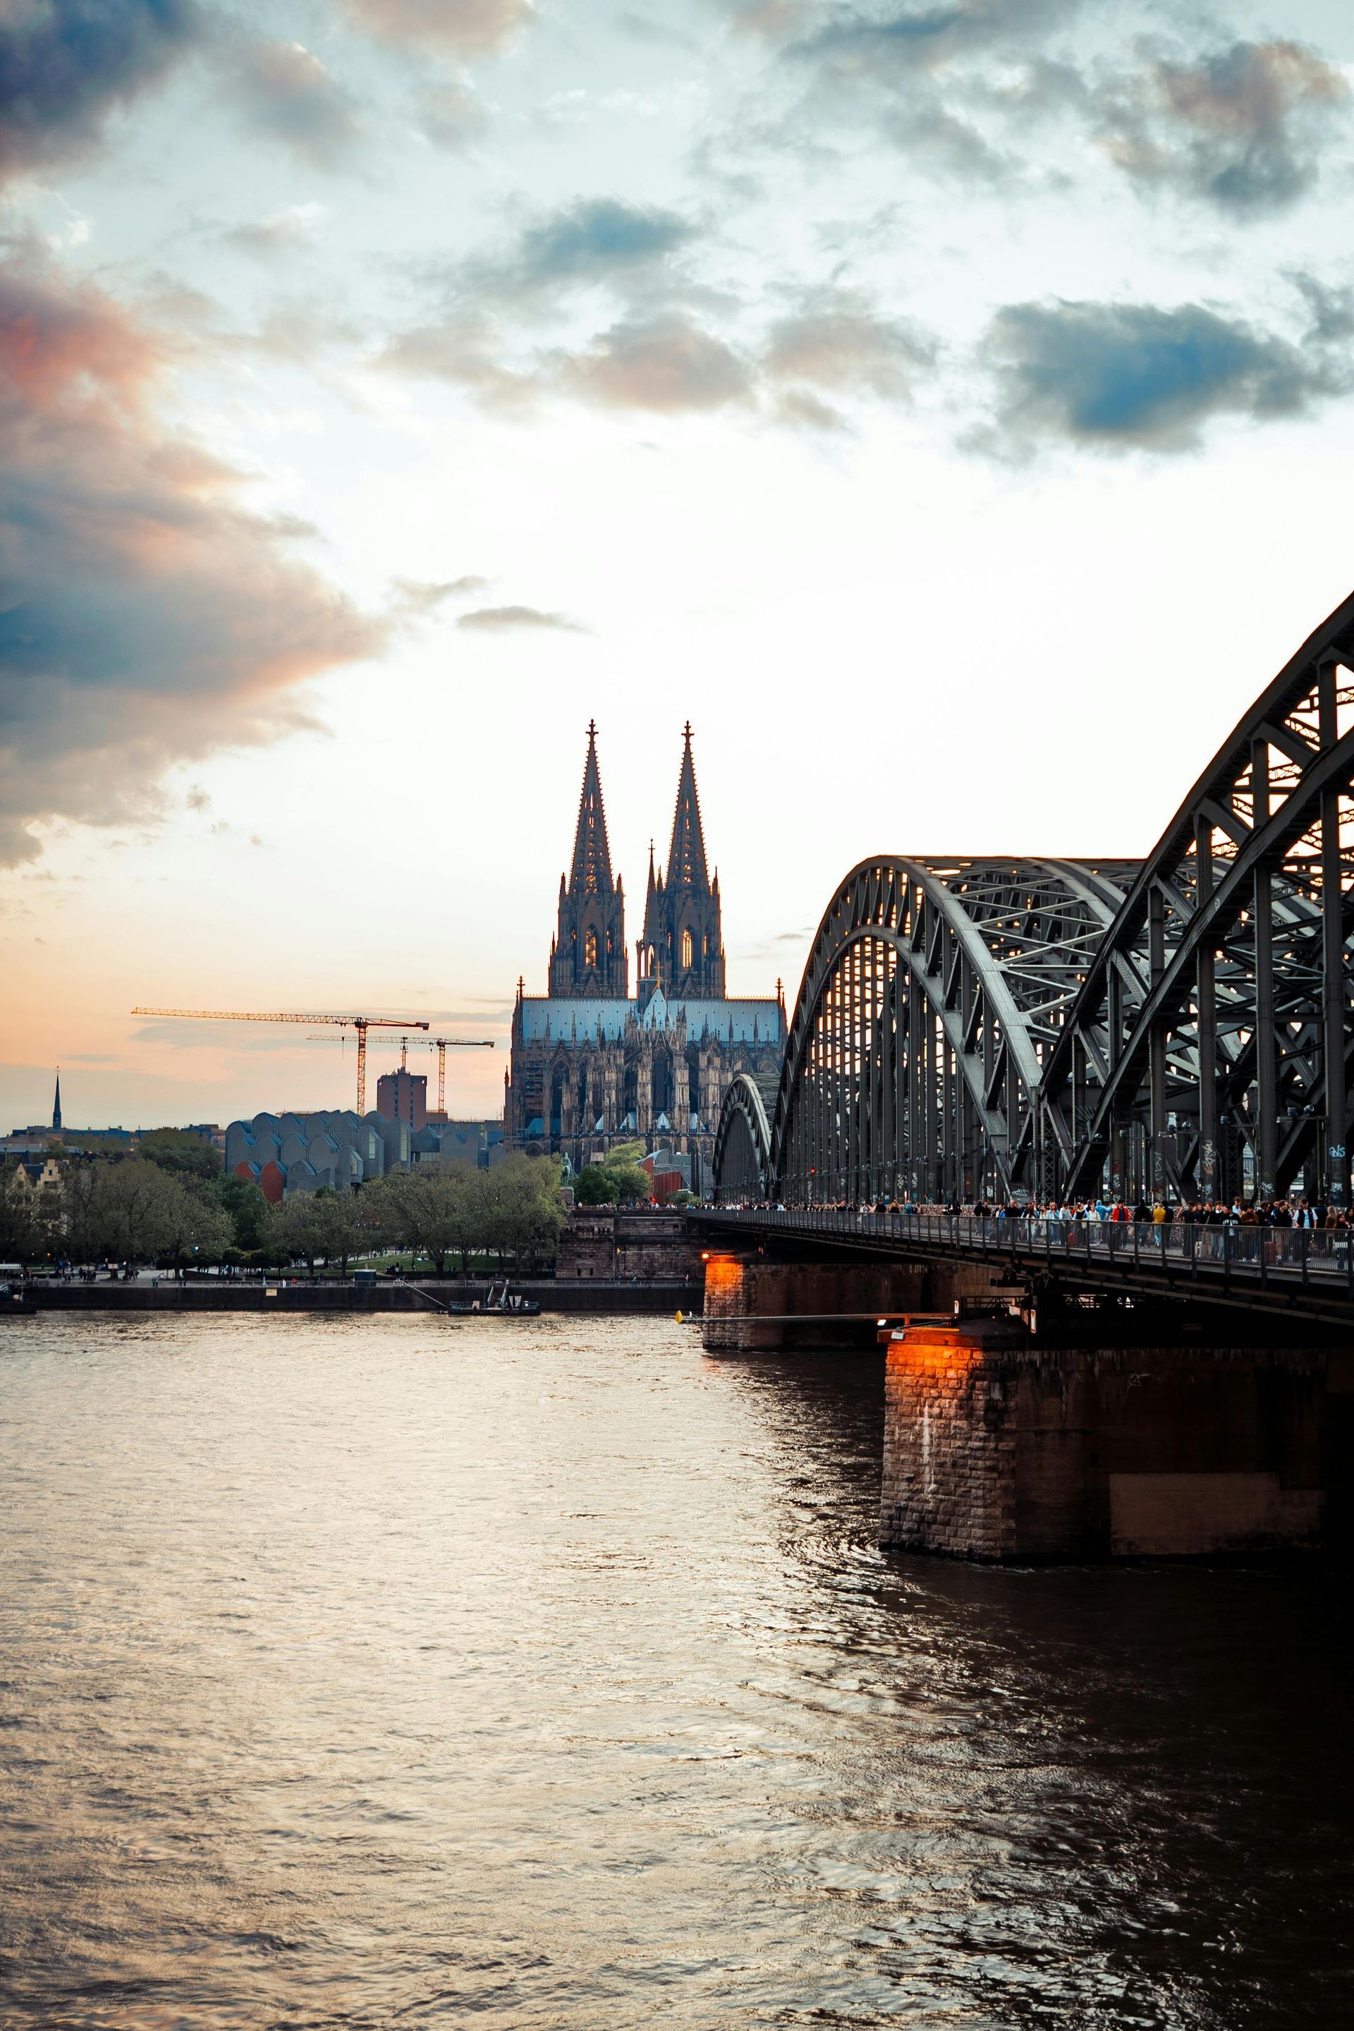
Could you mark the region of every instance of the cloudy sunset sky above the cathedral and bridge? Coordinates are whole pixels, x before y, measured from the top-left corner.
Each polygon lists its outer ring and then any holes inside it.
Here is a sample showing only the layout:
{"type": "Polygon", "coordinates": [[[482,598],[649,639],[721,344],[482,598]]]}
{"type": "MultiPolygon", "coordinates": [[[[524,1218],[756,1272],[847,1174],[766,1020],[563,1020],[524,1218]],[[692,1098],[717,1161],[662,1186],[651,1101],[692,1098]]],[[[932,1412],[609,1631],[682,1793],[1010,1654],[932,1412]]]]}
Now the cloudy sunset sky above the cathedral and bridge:
{"type": "Polygon", "coordinates": [[[873,853],[1147,853],[1354,585],[1352,87],[1348,0],[0,0],[0,1125],[351,1105],[134,1005],[495,1113],[593,717],[631,944],[692,721],[731,993],[873,853]]]}

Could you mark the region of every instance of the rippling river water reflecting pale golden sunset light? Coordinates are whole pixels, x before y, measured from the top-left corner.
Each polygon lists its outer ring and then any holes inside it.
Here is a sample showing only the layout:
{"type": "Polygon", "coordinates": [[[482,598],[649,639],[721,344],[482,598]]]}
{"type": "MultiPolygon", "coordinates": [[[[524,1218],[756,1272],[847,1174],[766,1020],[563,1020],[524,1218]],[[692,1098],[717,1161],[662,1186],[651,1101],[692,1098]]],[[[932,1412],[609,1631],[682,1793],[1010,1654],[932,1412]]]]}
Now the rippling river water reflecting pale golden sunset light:
{"type": "Polygon", "coordinates": [[[1354,2021],[1340,1576],[875,1548],[875,1357],[0,1326],[0,2023],[1354,2021]]]}

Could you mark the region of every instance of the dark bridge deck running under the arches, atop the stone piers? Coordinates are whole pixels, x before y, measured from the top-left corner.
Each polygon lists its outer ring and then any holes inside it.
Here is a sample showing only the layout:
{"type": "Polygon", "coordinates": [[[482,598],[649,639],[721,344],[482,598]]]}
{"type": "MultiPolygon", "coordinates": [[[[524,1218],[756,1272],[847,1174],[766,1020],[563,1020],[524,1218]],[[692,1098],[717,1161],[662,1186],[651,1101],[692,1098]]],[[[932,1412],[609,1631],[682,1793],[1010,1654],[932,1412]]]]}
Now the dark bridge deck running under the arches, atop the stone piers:
{"type": "Polygon", "coordinates": [[[972,1219],[828,1206],[702,1208],[713,1235],[775,1235],[865,1253],[1009,1261],[1084,1290],[1141,1290],[1350,1324],[1354,1231],[1149,1221],[972,1219]]]}

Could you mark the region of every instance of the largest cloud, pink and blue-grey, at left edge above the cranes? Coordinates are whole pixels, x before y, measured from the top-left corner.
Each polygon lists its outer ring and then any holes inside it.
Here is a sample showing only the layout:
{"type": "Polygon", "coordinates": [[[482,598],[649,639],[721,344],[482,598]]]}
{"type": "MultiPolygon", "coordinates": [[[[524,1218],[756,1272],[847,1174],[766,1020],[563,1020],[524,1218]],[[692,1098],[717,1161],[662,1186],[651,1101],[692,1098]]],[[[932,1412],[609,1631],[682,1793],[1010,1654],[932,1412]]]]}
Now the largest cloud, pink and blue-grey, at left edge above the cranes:
{"type": "Polygon", "coordinates": [[[0,861],[144,814],[173,762],[302,723],[304,678],[386,642],[160,420],[166,366],[93,286],[0,274],[0,861]]]}

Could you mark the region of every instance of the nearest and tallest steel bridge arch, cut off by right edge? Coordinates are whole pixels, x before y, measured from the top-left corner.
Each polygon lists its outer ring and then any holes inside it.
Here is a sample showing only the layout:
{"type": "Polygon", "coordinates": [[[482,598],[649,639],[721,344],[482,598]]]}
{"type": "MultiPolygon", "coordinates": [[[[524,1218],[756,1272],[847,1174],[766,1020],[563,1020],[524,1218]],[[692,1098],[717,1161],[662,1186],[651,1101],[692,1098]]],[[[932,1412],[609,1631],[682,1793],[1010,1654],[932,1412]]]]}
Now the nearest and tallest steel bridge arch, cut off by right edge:
{"type": "Polygon", "coordinates": [[[1068,1190],[1348,1202],[1352,672],[1354,595],[1143,861],[1023,1127],[1068,1190]]]}

